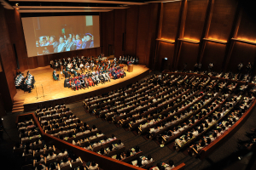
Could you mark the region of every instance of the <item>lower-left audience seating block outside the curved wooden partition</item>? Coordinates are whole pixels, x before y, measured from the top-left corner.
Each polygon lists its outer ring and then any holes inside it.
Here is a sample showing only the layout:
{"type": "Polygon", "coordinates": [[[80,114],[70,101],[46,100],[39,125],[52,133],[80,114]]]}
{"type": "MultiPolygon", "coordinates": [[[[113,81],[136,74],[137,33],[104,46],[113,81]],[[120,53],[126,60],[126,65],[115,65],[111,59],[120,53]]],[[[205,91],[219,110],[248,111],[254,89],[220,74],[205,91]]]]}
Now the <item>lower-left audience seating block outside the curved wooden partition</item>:
{"type": "Polygon", "coordinates": [[[99,169],[96,162],[84,162],[80,157],[73,154],[71,150],[58,149],[55,145],[49,145],[41,136],[39,128],[35,125],[34,120],[25,118],[25,121],[18,122],[17,127],[20,136],[28,137],[15,144],[14,153],[23,161],[22,169],[99,169]],[[33,127],[31,127],[33,126],[33,127]],[[25,128],[29,129],[25,131],[25,128]],[[33,135],[36,133],[36,135],[33,135]],[[37,138],[35,138],[37,137],[37,138]]]}

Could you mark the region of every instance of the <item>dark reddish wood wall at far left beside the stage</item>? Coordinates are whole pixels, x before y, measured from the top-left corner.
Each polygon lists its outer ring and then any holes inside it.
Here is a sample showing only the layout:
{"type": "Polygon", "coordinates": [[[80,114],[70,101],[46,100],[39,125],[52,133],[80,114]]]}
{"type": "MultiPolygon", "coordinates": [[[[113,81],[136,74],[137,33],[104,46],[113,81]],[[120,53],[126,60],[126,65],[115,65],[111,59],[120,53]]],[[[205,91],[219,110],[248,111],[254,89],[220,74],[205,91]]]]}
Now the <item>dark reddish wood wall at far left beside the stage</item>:
{"type": "Polygon", "coordinates": [[[0,56],[3,65],[1,72],[1,89],[0,94],[4,96],[3,103],[5,111],[12,110],[12,100],[16,94],[15,88],[15,53],[11,40],[9,38],[9,27],[7,25],[6,9],[0,4],[0,56]],[[4,73],[4,74],[3,74],[4,73]]]}

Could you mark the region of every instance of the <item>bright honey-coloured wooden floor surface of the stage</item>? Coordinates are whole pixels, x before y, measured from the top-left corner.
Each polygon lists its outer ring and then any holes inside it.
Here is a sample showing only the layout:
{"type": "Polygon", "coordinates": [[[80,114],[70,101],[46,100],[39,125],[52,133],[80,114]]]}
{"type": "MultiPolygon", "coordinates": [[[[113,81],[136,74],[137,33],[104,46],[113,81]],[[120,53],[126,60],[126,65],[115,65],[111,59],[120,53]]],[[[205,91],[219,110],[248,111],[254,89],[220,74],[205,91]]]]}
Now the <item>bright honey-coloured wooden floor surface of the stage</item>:
{"type": "MultiPolygon", "coordinates": [[[[61,81],[54,81],[52,77],[53,69],[50,66],[38,67],[36,69],[30,69],[26,71],[30,71],[32,76],[35,77],[35,88],[32,89],[32,93],[25,92],[23,90],[17,90],[17,94],[15,95],[14,100],[24,100],[24,105],[38,103],[42,101],[48,101],[52,99],[61,99],[67,98],[77,94],[85,94],[100,88],[106,88],[109,86],[113,86],[119,82],[124,82],[133,77],[137,77],[143,72],[148,71],[149,69],[145,65],[133,65],[133,72],[127,71],[127,65],[125,65],[125,78],[119,78],[117,80],[111,80],[111,82],[106,82],[105,84],[99,84],[98,86],[79,89],[77,91],[73,91],[71,88],[64,88],[64,77],[61,79],[60,71],[56,71],[60,75],[61,81]],[[43,87],[43,88],[42,88],[43,87]],[[44,94],[43,94],[44,89],[44,94]],[[37,99],[38,94],[38,99],[37,99]]],[[[26,73],[24,71],[24,73],[26,73]]]]}

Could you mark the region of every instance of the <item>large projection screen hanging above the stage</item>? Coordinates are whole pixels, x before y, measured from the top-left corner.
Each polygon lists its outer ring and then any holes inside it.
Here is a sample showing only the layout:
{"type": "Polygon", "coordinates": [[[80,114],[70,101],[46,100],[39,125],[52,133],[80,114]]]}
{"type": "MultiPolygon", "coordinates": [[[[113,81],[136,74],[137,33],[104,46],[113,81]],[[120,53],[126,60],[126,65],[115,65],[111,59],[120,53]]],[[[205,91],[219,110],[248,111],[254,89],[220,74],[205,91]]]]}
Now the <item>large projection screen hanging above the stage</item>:
{"type": "Polygon", "coordinates": [[[28,57],[100,47],[98,15],[22,18],[28,57]]]}

